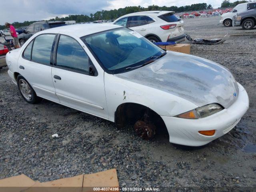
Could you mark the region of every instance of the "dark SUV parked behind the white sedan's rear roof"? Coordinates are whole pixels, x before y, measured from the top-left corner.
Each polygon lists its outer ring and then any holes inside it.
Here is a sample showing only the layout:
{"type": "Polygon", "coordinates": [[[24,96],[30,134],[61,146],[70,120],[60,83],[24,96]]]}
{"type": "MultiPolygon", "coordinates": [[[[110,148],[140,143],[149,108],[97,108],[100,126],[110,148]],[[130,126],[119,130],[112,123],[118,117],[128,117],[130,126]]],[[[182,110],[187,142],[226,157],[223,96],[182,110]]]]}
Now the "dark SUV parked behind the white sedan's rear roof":
{"type": "Polygon", "coordinates": [[[22,34],[18,35],[20,46],[23,46],[23,44],[28,40],[32,35],[35,33],[46,30],[49,28],[59,27],[59,26],[65,26],[65,22],[62,21],[42,21],[42,22],[35,22],[28,26],[26,31],[22,34]]]}

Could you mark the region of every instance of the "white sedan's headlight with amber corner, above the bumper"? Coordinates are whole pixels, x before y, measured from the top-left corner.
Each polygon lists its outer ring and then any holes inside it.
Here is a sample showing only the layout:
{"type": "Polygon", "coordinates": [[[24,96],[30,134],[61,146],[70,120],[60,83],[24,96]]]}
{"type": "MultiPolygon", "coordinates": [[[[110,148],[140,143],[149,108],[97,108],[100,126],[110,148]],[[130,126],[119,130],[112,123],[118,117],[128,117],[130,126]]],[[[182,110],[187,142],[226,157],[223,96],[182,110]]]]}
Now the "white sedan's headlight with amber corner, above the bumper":
{"type": "Polygon", "coordinates": [[[187,119],[198,119],[198,118],[208,117],[208,116],[210,116],[214,113],[217,113],[221,110],[223,110],[222,106],[220,106],[219,104],[216,104],[216,103],[212,103],[212,104],[198,107],[191,111],[176,115],[175,117],[187,118],[187,119]]]}

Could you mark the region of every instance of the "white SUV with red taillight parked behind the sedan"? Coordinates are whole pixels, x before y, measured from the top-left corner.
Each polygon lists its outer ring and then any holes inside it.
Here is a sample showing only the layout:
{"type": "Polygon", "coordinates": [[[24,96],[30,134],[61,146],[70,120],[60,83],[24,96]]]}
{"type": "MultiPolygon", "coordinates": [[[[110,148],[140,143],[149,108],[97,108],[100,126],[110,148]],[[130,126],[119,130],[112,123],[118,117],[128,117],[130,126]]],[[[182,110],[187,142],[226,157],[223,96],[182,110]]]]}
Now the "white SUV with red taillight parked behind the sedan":
{"type": "Polygon", "coordinates": [[[152,42],[185,40],[184,23],[173,11],[145,11],[124,15],[114,24],[130,28],[152,42]]]}

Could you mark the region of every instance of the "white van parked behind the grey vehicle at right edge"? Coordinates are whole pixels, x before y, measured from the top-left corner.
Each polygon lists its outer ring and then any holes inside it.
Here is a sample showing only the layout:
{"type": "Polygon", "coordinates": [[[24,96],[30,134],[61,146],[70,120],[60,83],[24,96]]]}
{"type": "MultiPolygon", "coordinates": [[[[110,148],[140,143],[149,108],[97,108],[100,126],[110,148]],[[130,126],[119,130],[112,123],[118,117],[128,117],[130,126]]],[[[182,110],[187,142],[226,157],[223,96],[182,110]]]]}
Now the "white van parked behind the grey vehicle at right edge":
{"type": "Polygon", "coordinates": [[[220,24],[223,24],[225,27],[231,27],[232,26],[232,19],[236,14],[239,14],[241,12],[245,12],[248,10],[252,10],[256,8],[256,2],[247,2],[247,3],[241,3],[235,6],[231,12],[222,14],[220,18],[220,24]]]}

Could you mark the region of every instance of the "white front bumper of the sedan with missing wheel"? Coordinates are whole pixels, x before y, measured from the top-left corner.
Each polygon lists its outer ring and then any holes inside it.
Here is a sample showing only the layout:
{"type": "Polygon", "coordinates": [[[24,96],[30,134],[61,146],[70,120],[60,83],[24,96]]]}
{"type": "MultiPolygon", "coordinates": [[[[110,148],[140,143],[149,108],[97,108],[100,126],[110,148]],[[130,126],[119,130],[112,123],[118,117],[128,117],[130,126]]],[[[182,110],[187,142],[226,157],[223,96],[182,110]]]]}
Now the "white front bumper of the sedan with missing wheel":
{"type": "Polygon", "coordinates": [[[161,116],[166,124],[171,143],[202,146],[228,133],[240,121],[249,107],[246,90],[238,83],[239,94],[227,109],[200,119],[161,116]],[[199,134],[200,130],[216,130],[213,136],[199,134]]]}

